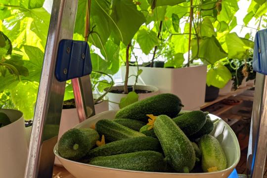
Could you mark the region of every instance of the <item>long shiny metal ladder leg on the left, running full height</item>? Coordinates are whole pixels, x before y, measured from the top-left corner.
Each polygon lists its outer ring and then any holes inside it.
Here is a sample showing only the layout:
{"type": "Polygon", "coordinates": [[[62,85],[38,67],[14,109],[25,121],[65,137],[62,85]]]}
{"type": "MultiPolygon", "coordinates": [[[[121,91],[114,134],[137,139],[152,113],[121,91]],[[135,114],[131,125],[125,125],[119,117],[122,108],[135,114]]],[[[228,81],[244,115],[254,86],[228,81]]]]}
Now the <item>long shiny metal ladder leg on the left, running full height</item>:
{"type": "Polygon", "coordinates": [[[51,178],[65,82],[54,76],[58,43],[72,39],[78,0],[54,0],[24,178],[51,178]]]}

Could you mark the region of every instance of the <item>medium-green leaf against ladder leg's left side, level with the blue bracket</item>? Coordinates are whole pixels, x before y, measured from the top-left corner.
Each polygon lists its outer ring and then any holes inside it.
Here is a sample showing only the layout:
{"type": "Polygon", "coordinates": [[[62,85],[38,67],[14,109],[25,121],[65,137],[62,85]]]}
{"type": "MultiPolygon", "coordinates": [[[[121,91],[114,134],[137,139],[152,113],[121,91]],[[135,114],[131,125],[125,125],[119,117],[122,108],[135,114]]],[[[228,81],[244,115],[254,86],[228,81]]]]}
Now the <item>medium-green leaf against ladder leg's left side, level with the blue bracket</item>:
{"type": "Polygon", "coordinates": [[[44,52],[35,46],[24,45],[23,47],[28,56],[28,60],[24,61],[24,66],[29,69],[29,77],[25,79],[32,82],[40,82],[44,52]]]}

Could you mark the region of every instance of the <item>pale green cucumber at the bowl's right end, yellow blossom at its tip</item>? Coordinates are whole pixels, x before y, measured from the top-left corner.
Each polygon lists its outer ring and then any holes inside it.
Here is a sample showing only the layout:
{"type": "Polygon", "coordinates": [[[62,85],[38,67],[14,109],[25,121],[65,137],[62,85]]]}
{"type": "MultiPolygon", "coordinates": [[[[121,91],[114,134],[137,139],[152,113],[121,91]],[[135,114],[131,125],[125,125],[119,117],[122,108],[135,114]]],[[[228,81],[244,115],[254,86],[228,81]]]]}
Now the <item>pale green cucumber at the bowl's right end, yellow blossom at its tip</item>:
{"type": "Polygon", "coordinates": [[[202,153],[202,170],[204,172],[222,171],[226,169],[227,161],[220,142],[212,135],[203,135],[199,142],[202,153]]]}

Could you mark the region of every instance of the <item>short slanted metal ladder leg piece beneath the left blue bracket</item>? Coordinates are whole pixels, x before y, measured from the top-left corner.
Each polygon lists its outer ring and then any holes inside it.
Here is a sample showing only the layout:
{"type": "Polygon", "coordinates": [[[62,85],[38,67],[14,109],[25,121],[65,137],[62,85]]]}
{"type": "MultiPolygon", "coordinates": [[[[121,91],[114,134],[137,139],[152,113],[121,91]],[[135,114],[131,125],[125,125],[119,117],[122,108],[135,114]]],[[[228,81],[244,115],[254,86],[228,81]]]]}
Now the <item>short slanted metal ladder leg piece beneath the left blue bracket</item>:
{"type": "Polygon", "coordinates": [[[71,80],[79,121],[95,115],[90,76],[71,80]]]}

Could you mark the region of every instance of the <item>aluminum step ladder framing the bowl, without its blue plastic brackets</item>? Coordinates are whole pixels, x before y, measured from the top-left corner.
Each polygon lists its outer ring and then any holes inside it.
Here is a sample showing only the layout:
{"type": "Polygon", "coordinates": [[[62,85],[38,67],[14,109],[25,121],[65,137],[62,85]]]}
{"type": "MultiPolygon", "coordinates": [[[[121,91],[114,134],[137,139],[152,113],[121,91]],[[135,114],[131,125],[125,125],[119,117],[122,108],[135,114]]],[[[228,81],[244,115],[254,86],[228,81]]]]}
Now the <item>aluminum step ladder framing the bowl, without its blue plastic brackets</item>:
{"type": "MultiPolygon", "coordinates": [[[[55,157],[53,147],[57,142],[58,130],[53,131],[55,135],[47,137],[51,132],[48,126],[59,128],[66,85],[65,81],[59,82],[55,76],[56,61],[60,42],[63,39],[72,40],[77,6],[78,0],[53,1],[24,178],[52,177],[55,157]]],[[[67,48],[66,52],[72,50],[67,48]]],[[[70,71],[64,68],[61,72],[68,74],[70,71]]],[[[267,151],[267,78],[261,71],[257,72],[247,162],[248,175],[252,178],[263,177],[267,151]]],[[[72,79],[72,86],[80,121],[84,121],[94,115],[89,75],[72,79]]],[[[234,171],[230,178],[236,177],[234,171]]]]}

